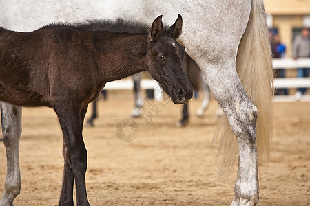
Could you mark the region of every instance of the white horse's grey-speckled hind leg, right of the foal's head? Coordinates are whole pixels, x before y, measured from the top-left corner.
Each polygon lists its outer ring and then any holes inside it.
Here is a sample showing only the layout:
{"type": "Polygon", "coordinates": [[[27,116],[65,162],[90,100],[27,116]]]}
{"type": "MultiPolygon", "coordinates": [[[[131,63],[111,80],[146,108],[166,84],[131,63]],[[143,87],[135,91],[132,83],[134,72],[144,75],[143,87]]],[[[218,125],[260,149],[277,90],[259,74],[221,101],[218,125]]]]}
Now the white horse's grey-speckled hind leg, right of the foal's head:
{"type": "Polygon", "coordinates": [[[209,88],[223,108],[238,140],[239,164],[234,201],[231,205],[258,203],[258,165],[256,148],[257,108],[245,93],[236,73],[234,58],[212,65],[202,62],[209,88]]]}

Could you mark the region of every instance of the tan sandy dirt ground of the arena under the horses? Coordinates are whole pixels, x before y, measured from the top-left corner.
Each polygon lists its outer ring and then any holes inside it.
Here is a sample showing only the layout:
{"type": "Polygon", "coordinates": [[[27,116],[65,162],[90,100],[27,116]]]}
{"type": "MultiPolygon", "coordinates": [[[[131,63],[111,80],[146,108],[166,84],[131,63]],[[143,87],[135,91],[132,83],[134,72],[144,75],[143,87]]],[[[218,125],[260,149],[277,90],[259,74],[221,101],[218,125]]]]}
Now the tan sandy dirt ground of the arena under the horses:
{"type": "MultiPolygon", "coordinates": [[[[99,101],[96,126],[83,131],[91,205],[230,204],[236,168],[227,175],[218,174],[216,149],[210,149],[218,123],[214,100],[203,119],[195,117],[200,100],[192,100],[192,118],[185,128],[174,126],[180,106],[167,100],[163,104],[145,100],[145,107],[150,108],[143,111],[145,119],[134,120],[138,130],[133,134],[138,136],[124,143],[115,130],[118,122],[130,117],[132,93],[109,94],[108,100],[99,101]]],[[[269,164],[260,168],[258,205],[309,205],[310,103],[277,102],[274,113],[271,156],[269,164]]],[[[0,152],[0,183],[4,183],[3,146],[0,152]]],[[[63,170],[62,133],[52,109],[23,108],[20,163],[22,186],[15,205],[57,205],[63,170]]],[[[2,193],[3,184],[0,190],[2,193]]]]}

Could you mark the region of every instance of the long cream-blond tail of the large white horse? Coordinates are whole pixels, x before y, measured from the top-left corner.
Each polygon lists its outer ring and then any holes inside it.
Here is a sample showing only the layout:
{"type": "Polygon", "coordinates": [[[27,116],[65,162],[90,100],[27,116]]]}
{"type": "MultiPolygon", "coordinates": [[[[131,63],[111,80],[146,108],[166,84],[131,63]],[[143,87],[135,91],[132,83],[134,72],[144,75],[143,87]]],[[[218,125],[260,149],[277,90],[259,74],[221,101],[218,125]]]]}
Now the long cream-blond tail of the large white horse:
{"type": "MultiPolygon", "coordinates": [[[[262,0],[252,0],[251,14],[236,58],[236,69],[247,95],[258,108],[256,137],[258,163],[267,161],[272,136],[273,67],[271,46],[262,0]]],[[[238,142],[226,117],[220,119],[220,170],[228,170],[238,158],[238,142]]],[[[215,138],[216,139],[216,138],[215,138]]]]}

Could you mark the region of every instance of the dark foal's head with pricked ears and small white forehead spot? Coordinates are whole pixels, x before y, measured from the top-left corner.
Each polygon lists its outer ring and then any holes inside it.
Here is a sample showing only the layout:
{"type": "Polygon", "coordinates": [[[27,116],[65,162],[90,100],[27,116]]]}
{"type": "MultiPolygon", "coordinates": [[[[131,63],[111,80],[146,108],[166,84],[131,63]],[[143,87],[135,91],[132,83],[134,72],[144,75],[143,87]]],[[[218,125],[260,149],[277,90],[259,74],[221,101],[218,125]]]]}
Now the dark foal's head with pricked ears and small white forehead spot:
{"type": "Polygon", "coordinates": [[[167,29],[163,29],[161,18],[155,19],[147,38],[147,69],[174,104],[185,104],[193,89],[185,72],[185,49],[176,41],[182,32],[182,17],[178,15],[167,29]]]}

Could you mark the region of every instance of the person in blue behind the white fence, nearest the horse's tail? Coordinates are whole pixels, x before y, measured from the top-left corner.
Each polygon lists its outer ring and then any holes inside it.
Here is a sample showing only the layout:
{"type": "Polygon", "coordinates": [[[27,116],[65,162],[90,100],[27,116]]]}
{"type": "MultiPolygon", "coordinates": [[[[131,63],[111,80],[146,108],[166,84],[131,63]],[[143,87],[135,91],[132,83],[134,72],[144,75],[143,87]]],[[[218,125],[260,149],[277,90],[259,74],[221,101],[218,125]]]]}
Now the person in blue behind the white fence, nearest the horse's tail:
{"type": "MultiPolygon", "coordinates": [[[[271,38],[271,50],[273,58],[285,58],[285,45],[280,41],[280,35],[278,33],[271,38]]],[[[285,78],[285,69],[276,69],[276,78],[285,78]]],[[[276,95],[287,95],[287,89],[276,89],[276,95]]]]}

